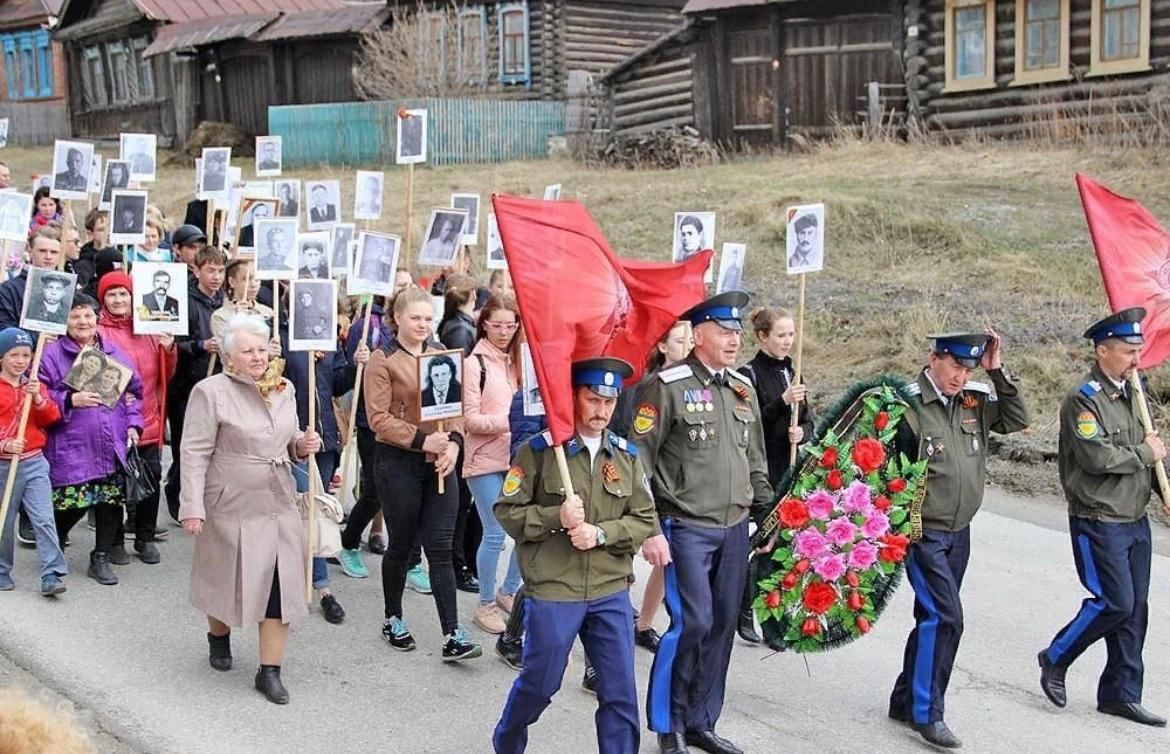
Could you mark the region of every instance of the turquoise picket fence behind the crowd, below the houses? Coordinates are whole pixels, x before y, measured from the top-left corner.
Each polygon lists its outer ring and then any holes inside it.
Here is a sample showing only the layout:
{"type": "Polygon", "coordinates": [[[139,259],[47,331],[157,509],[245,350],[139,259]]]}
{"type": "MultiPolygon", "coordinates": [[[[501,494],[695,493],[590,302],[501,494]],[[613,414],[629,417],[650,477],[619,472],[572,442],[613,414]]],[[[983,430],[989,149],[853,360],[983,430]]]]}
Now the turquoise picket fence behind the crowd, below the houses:
{"type": "Polygon", "coordinates": [[[563,102],[401,100],[268,108],[285,167],[394,163],[399,108],[427,110],[427,163],[457,165],[539,159],[564,132],[563,102]]]}

